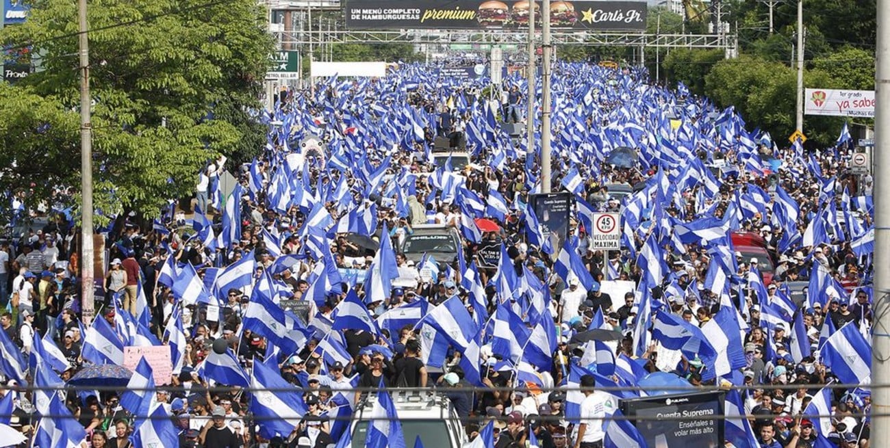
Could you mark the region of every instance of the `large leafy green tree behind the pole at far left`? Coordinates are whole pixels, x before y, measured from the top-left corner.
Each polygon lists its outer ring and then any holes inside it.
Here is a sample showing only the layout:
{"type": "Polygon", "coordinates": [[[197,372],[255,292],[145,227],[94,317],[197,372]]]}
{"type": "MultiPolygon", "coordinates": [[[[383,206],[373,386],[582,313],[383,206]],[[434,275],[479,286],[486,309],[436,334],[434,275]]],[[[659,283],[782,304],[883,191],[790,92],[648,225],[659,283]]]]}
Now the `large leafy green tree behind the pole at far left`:
{"type": "MultiPolygon", "coordinates": [[[[97,209],[153,216],[167,198],[190,195],[207,160],[234,164],[262,148],[250,110],[273,46],[254,0],[91,0],[88,11],[97,209]]],[[[76,31],[75,2],[36,0],[28,21],[0,32],[43,67],[0,91],[0,165],[12,185],[79,190],[76,31]],[[40,116],[21,110],[34,107],[40,116]]],[[[26,204],[47,198],[33,188],[26,204]]]]}

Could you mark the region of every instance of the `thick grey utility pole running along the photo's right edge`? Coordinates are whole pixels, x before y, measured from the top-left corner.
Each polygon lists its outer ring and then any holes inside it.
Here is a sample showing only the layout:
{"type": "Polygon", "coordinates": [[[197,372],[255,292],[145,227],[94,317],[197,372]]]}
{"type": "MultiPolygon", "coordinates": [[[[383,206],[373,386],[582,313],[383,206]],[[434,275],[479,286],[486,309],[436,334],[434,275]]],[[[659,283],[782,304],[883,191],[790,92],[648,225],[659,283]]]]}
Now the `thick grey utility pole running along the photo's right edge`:
{"type": "MultiPolygon", "coordinates": [[[[890,102],[890,4],[878,2],[878,42],[875,49],[877,73],[875,101],[890,102]]],[[[878,103],[880,104],[880,103],[878,103]]],[[[890,110],[875,108],[874,199],[874,326],[871,332],[871,383],[884,386],[890,382],[890,110]]],[[[871,440],[890,440],[890,388],[871,391],[871,440]]],[[[882,443],[882,444],[883,444],[882,443]]]]}

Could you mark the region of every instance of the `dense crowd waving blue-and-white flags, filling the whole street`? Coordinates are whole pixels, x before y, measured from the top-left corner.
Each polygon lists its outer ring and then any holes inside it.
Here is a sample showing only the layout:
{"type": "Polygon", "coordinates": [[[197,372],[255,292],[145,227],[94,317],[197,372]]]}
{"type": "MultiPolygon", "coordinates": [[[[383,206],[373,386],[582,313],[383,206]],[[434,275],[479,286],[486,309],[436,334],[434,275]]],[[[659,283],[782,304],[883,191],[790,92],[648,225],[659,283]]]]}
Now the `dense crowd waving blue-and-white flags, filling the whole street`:
{"type": "MultiPolygon", "coordinates": [[[[166,412],[180,446],[336,444],[350,435],[340,422],[380,388],[435,388],[468,437],[498,448],[530,437],[603,446],[606,417],[657,372],[690,388],[739,387],[736,415],[749,418],[727,420],[734,446],[869,446],[868,389],[823,388],[850,383],[825,355],[837,351],[832,338],[852,328],[869,340],[873,317],[871,179],[843,170],[848,135],[814,154],[778,148],[682,86],[558,64],[552,188],[575,204],[557,236],[529,205],[541,189],[538,156],[495,119],[528,119],[522,80],[509,76],[505,100],[492,103],[479,81],[424,73],[403,67],[280,92],[261,116],[270,128],[262,156],[214,160],[193,202],[104,229],[94,324],[81,316],[74,223],[62,213],[20,217],[48,222],[0,243],[0,327],[32,367],[18,378],[4,351],[8,424],[26,436],[47,425],[45,404],[22,388],[47,381],[37,371],[52,365],[75,384],[86,367],[122,360],[102,344],[163,344],[173,373],[156,381],[144,411],[166,412]],[[454,132],[450,143],[473,163],[433,164],[435,137],[454,132]],[[607,163],[619,147],[638,160],[607,163]],[[239,181],[233,192],[221,189],[223,171],[239,181]],[[595,248],[598,212],[619,213],[621,250],[595,248]],[[497,229],[481,231],[478,219],[497,229]],[[406,239],[431,224],[454,228],[461,247],[447,260],[409,260],[406,239]],[[762,242],[769,259],[734,251],[738,233],[762,242]],[[487,242],[503,244],[497,268],[481,258],[487,242]],[[665,325],[692,336],[677,343],[665,325]],[[720,329],[728,341],[712,346],[720,329]],[[593,330],[616,335],[611,357],[581,338],[593,330]],[[221,373],[225,356],[246,382],[221,373]],[[248,372],[258,364],[296,391],[289,430],[255,418],[251,401],[262,400],[244,388],[255,386],[248,372]],[[628,392],[600,390],[610,386],[628,392]],[[830,419],[802,418],[808,409],[830,419]]],[[[124,393],[77,388],[61,400],[90,446],[123,448],[150,424],[122,405],[124,393]]]]}

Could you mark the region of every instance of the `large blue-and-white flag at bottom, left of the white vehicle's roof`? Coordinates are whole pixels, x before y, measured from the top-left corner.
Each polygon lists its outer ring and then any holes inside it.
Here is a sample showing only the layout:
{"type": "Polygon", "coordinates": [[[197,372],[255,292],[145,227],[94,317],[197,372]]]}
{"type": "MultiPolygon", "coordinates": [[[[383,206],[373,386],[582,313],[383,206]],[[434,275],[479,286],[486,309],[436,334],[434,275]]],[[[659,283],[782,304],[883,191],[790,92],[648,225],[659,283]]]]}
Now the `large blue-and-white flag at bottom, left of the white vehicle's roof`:
{"type": "Polygon", "coordinates": [[[300,423],[306,413],[306,405],[293,385],[281,378],[278,364],[274,368],[267,362],[254,362],[251,387],[253,399],[249,401],[248,412],[255,416],[263,438],[287,437],[300,423]]]}

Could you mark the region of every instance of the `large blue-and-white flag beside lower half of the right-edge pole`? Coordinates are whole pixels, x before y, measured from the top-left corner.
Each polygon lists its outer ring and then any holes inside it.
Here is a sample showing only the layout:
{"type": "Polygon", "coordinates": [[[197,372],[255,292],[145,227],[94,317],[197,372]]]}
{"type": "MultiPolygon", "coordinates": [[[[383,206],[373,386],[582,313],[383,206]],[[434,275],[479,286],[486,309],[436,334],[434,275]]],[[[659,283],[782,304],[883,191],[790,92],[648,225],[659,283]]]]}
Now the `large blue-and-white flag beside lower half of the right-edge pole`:
{"type": "Polygon", "coordinates": [[[820,352],[822,362],[845,384],[871,381],[871,346],[862,337],[858,324],[845,324],[831,335],[820,352]]]}

